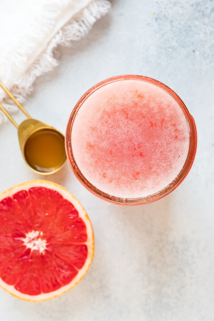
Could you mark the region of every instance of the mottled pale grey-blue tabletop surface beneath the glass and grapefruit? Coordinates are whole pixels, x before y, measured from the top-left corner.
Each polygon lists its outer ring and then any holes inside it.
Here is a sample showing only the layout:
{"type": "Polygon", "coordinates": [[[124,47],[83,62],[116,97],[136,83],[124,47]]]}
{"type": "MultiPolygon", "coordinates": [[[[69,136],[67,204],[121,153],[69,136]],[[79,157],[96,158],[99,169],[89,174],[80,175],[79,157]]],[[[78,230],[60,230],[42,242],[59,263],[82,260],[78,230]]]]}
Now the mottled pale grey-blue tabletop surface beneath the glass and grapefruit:
{"type": "MultiPolygon", "coordinates": [[[[73,290],[47,302],[24,302],[0,289],[3,321],[214,320],[214,1],[111,2],[111,13],[86,38],[59,49],[59,67],[37,80],[24,107],[64,132],[72,108],[95,83],[117,74],[150,76],[193,115],[195,162],[173,193],[136,207],[99,200],[68,164],[47,176],[88,212],[94,261],[73,290]]],[[[44,178],[26,167],[9,122],[0,129],[0,164],[0,192],[44,178]]]]}

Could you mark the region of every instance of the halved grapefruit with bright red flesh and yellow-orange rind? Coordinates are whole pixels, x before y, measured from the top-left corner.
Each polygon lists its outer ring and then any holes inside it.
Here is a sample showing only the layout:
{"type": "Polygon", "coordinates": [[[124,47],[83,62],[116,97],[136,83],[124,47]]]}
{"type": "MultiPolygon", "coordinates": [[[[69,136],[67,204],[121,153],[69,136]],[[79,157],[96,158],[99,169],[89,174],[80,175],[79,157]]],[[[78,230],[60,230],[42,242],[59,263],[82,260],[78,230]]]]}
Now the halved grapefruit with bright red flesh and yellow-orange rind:
{"type": "Polygon", "coordinates": [[[73,288],[94,255],[91,222],[62,186],[34,180],[0,195],[0,286],[28,301],[73,288]]]}

